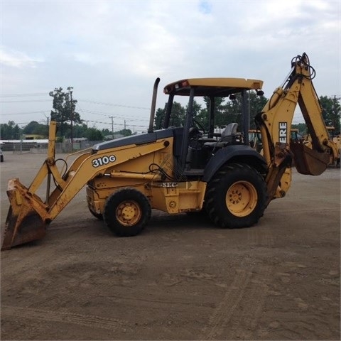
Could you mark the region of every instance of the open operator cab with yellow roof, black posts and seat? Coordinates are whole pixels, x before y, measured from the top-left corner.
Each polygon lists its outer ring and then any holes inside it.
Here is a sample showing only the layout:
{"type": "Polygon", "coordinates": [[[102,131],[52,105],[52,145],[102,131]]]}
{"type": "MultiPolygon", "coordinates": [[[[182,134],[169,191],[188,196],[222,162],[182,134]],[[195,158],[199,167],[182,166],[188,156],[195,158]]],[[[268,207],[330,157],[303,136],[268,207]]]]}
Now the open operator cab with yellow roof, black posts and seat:
{"type": "MultiPolygon", "coordinates": [[[[252,150],[249,146],[249,91],[262,95],[262,85],[261,80],[244,78],[195,78],[166,85],[163,92],[168,94],[168,103],[159,128],[181,127],[181,134],[174,136],[174,156],[185,175],[203,175],[207,163],[221,149],[237,145],[242,146],[242,153],[247,153],[245,147],[252,150]],[[175,104],[179,96],[188,97],[183,121],[179,119],[175,104]],[[232,121],[223,111],[222,102],[224,99],[233,101],[237,96],[240,99],[239,121],[232,121]],[[196,112],[197,103],[202,100],[207,105],[205,117],[199,117],[196,112]]],[[[233,148],[234,154],[236,151],[237,148],[233,148]]]]}

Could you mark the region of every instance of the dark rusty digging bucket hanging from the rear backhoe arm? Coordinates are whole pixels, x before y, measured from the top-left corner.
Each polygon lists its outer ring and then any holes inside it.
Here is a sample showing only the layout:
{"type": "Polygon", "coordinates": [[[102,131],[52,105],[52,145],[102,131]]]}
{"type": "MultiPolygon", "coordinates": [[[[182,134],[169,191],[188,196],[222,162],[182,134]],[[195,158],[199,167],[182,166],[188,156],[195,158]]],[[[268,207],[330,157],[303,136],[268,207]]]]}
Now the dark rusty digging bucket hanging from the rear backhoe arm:
{"type": "Polygon", "coordinates": [[[298,173],[306,175],[320,175],[328,167],[330,156],[319,153],[303,144],[303,141],[292,141],[290,144],[298,173]]]}

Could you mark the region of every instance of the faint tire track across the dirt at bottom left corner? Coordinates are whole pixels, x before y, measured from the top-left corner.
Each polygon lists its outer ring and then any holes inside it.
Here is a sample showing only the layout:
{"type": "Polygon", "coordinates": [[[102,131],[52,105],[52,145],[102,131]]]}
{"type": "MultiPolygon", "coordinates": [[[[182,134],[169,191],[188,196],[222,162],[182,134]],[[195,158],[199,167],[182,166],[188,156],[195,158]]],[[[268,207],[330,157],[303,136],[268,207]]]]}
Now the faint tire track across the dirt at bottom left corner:
{"type": "Polygon", "coordinates": [[[114,330],[128,322],[117,318],[102,318],[95,315],[82,315],[75,313],[57,312],[51,310],[13,307],[1,305],[2,318],[5,316],[15,316],[18,318],[27,318],[28,320],[71,323],[74,325],[85,325],[90,328],[100,328],[114,330]]]}

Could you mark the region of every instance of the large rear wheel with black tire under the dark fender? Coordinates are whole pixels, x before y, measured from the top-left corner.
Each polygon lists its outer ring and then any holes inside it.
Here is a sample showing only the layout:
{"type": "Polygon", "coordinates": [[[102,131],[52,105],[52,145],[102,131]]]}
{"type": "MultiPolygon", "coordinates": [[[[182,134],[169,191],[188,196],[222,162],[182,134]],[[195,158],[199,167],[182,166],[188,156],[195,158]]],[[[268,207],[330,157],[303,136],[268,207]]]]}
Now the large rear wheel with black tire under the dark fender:
{"type": "Polygon", "coordinates": [[[207,184],[205,207],[222,228],[250,227],[264,214],[268,201],[264,178],[247,164],[224,166],[207,184]]]}

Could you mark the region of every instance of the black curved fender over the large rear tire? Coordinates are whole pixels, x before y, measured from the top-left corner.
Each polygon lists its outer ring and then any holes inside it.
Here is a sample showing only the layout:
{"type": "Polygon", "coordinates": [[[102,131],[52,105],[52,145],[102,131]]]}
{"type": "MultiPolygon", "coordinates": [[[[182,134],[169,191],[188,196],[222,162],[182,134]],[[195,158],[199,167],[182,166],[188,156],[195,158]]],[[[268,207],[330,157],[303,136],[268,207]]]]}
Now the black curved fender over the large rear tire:
{"type": "Polygon", "coordinates": [[[236,162],[243,162],[245,160],[250,166],[254,166],[259,172],[266,172],[266,161],[261,154],[255,151],[250,146],[238,144],[234,146],[227,146],[215,153],[215,156],[210,158],[202,177],[202,181],[208,182],[212,179],[213,175],[224,165],[227,161],[234,158],[236,162]]]}

